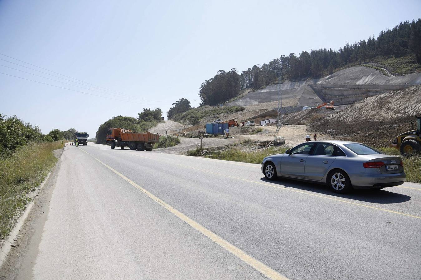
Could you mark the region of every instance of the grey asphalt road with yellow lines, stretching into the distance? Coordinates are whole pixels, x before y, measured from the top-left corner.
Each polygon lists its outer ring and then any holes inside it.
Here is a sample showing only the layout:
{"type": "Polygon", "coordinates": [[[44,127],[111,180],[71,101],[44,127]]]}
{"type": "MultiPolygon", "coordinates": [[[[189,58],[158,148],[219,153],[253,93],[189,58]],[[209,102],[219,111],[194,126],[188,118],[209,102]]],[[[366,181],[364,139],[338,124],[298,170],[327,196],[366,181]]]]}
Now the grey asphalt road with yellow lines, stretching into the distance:
{"type": "Polygon", "coordinates": [[[91,143],[58,167],[8,278],[421,277],[419,184],[337,195],[259,165],[91,143]]]}

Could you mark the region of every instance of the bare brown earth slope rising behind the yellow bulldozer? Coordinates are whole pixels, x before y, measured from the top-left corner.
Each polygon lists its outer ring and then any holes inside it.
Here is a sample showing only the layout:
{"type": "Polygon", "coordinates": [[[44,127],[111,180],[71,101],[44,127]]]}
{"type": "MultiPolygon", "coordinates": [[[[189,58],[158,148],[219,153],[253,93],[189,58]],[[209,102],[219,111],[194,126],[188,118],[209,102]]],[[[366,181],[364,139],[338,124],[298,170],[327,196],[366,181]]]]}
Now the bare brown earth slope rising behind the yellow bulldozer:
{"type": "Polygon", "coordinates": [[[421,115],[421,86],[367,97],[338,113],[319,118],[310,129],[333,139],[387,146],[398,134],[410,130],[410,121],[421,115]]]}

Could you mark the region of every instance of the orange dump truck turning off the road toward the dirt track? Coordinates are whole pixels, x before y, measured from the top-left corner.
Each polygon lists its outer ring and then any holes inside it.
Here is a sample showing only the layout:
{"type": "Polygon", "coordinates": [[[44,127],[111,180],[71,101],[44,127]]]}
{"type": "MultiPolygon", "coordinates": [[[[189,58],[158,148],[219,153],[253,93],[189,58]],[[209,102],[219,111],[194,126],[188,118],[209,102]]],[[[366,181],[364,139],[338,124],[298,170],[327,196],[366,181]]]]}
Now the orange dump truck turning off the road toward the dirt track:
{"type": "Polygon", "coordinates": [[[159,140],[159,134],[144,132],[132,132],[130,129],[108,128],[107,145],[114,149],[116,146],[120,149],[128,146],[131,150],[152,151],[152,147],[159,140]]]}

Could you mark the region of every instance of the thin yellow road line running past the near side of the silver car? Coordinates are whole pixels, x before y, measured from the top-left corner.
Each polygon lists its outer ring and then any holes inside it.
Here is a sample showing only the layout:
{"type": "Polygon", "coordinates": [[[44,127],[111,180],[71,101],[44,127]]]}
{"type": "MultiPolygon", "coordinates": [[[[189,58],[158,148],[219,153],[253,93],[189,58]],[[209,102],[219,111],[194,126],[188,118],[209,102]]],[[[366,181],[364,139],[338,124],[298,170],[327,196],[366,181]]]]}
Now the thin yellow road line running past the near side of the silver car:
{"type": "MultiPolygon", "coordinates": [[[[140,156],[140,155],[137,155],[137,154],[133,154],[133,155],[135,155],[137,157],[143,157],[143,156],[140,156]]],[[[144,157],[144,158],[147,158],[149,160],[154,160],[154,159],[149,158],[149,157],[144,157]]],[[[344,202],[344,203],[348,203],[348,204],[354,204],[354,205],[358,205],[358,206],[362,206],[362,207],[367,207],[367,208],[371,208],[371,209],[381,210],[381,211],[384,211],[384,212],[389,212],[389,213],[394,213],[394,214],[399,214],[399,215],[404,215],[404,216],[408,216],[408,217],[413,217],[413,218],[421,219],[421,217],[416,216],[416,215],[405,214],[405,213],[402,213],[402,212],[397,212],[397,211],[393,211],[393,210],[388,210],[388,209],[378,208],[378,207],[374,207],[374,206],[364,205],[364,204],[360,204],[360,203],[356,203],[356,202],[346,201],[346,200],[343,200],[343,199],[336,199],[336,198],[333,198],[333,197],[322,196],[320,194],[311,194],[311,193],[308,193],[308,192],[305,192],[305,191],[299,191],[299,190],[292,189],[292,188],[285,188],[285,187],[275,186],[275,185],[268,184],[268,183],[262,183],[262,182],[248,180],[248,179],[238,178],[238,177],[234,177],[234,176],[230,176],[230,175],[226,175],[226,174],[222,174],[222,173],[217,173],[217,172],[213,172],[213,171],[209,171],[209,170],[203,170],[203,169],[199,169],[199,168],[195,168],[195,167],[191,167],[191,166],[183,165],[183,164],[179,164],[179,163],[176,163],[176,165],[183,166],[183,167],[188,167],[188,168],[192,168],[192,169],[203,171],[203,172],[207,172],[207,173],[212,173],[212,174],[216,174],[216,175],[225,176],[225,177],[228,177],[228,178],[238,179],[238,180],[246,181],[246,182],[250,182],[250,183],[256,183],[256,184],[260,184],[260,185],[264,185],[264,186],[270,186],[270,187],[273,187],[273,188],[280,188],[281,190],[295,191],[295,192],[300,193],[300,194],[307,194],[307,195],[311,195],[311,196],[317,196],[317,197],[321,197],[321,198],[324,198],[324,199],[331,199],[331,200],[340,201],[340,202],[344,202]]]]}

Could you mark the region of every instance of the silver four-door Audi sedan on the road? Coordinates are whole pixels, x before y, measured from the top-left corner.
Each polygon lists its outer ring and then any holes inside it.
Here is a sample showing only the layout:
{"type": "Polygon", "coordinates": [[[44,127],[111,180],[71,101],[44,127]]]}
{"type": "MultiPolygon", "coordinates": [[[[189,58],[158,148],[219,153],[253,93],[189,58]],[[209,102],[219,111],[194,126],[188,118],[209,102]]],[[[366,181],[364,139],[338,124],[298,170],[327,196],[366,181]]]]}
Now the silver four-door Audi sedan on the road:
{"type": "Polygon", "coordinates": [[[285,154],[265,157],[261,166],[268,180],[285,177],[327,184],[337,193],[352,188],[382,189],[405,182],[400,157],[350,141],[309,141],[285,154]]]}

